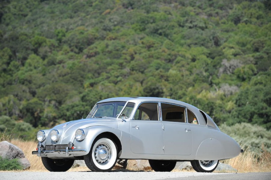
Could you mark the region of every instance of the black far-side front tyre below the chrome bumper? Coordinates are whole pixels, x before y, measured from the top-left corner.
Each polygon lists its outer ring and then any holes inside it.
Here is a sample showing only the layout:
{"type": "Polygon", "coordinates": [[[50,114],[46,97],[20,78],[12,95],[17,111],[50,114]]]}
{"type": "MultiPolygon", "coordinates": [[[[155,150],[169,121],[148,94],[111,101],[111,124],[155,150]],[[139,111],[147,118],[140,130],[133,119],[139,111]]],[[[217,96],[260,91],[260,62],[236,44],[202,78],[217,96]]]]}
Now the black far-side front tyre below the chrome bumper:
{"type": "Polygon", "coordinates": [[[69,170],[74,163],[74,159],[50,159],[41,157],[44,167],[51,172],[64,172],[69,170]]]}

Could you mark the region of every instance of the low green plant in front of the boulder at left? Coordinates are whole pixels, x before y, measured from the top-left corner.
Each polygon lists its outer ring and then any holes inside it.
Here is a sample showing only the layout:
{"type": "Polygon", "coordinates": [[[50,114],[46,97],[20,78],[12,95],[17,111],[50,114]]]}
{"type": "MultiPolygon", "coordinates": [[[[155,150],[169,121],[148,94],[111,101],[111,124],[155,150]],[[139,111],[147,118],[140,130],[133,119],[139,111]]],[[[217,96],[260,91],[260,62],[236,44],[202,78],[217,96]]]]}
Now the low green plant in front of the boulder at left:
{"type": "Polygon", "coordinates": [[[23,170],[22,164],[18,161],[19,159],[8,159],[0,156],[0,170],[11,171],[11,170],[23,170]]]}

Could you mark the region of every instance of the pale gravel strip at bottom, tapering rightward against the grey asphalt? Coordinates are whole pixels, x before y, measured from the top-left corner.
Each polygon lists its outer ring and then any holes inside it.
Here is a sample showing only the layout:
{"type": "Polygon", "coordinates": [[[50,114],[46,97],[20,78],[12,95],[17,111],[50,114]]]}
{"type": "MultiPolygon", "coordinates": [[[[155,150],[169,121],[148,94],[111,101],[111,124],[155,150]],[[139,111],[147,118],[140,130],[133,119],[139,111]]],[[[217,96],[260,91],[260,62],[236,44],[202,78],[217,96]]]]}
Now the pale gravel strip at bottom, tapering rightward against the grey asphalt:
{"type": "Polygon", "coordinates": [[[195,172],[0,172],[0,179],[5,180],[30,180],[30,179],[100,179],[100,180],[151,180],[170,179],[189,176],[210,176],[226,173],[195,173],[195,172]]]}

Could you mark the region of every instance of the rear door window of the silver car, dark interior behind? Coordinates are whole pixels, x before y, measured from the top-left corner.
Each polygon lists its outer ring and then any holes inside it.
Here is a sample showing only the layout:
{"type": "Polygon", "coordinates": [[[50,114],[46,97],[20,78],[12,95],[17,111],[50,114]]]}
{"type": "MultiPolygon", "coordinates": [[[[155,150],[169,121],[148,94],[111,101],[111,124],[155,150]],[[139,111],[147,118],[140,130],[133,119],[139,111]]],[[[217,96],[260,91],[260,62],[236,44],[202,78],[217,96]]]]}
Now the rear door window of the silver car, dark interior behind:
{"type": "Polygon", "coordinates": [[[185,123],[185,108],[173,104],[161,103],[163,121],[185,123]]]}

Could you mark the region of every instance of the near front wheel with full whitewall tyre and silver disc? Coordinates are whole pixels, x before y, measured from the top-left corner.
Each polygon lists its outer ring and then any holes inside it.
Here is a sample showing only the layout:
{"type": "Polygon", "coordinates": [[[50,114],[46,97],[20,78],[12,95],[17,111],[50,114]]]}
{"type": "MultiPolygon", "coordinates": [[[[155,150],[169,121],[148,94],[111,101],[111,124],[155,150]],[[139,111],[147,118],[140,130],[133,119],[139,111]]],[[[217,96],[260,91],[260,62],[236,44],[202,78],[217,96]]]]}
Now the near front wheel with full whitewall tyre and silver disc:
{"type": "Polygon", "coordinates": [[[87,167],[92,171],[110,171],[117,161],[117,145],[107,137],[94,141],[90,152],[84,155],[87,167]]]}

